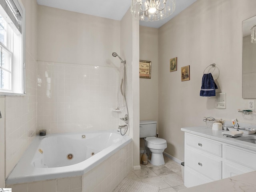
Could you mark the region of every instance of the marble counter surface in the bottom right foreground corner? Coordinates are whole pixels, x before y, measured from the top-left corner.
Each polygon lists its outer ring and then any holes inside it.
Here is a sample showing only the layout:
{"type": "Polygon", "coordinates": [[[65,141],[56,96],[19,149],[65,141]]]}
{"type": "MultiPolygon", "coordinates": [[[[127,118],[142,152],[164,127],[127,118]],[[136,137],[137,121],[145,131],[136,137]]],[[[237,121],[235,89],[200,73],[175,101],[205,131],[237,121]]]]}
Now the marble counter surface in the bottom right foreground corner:
{"type": "Polygon", "coordinates": [[[179,192],[255,192],[256,171],[233,176],[230,178],[186,188],[179,192]]]}

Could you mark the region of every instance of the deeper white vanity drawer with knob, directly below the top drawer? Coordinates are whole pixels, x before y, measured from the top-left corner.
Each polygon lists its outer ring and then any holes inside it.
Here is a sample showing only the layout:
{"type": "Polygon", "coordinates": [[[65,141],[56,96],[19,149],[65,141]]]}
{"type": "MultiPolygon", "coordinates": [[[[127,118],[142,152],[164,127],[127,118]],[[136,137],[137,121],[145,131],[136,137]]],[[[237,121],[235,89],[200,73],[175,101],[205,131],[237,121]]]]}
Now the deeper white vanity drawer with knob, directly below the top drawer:
{"type": "Polygon", "coordinates": [[[218,160],[212,155],[207,155],[205,152],[200,152],[187,146],[185,162],[186,166],[211,180],[222,178],[222,160],[218,160]]]}

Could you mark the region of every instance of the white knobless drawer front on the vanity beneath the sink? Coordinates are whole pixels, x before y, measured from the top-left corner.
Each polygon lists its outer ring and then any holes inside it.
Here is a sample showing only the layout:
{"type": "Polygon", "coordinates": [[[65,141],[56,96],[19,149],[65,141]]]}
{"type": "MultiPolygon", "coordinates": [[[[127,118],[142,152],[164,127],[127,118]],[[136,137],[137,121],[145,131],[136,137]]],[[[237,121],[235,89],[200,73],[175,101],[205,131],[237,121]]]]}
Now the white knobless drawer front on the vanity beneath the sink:
{"type": "Polygon", "coordinates": [[[256,170],[256,153],[232,146],[224,146],[226,159],[256,170]]]}

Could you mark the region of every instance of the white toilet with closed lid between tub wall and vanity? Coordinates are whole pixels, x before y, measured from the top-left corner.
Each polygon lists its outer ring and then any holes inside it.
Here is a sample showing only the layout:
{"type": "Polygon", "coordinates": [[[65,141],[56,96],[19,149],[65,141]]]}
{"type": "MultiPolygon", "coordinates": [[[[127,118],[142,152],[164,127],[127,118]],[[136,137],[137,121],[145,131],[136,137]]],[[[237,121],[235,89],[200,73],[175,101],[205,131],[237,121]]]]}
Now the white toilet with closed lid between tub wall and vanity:
{"type": "Polygon", "coordinates": [[[164,165],[163,152],[167,148],[167,142],[164,139],[156,137],[156,121],[140,121],[140,138],[146,140],[146,148],[151,152],[152,165],[164,165]]]}

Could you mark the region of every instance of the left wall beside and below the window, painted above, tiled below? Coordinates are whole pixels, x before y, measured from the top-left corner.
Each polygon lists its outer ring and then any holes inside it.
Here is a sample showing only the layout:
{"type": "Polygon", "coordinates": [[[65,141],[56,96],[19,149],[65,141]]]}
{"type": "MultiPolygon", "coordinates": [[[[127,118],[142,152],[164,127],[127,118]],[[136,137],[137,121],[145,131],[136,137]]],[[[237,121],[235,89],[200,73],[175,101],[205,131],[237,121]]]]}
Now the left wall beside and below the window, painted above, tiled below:
{"type": "Polygon", "coordinates": [[[0,97],[0,110],[4,114],[0,120],[0,135],[5,132],[5,150],[0,150],[1,156],[5,154],[5,165],[0,162],[1,184],[34,138],[36,131],[37,2],[22,0],[22,3],[26,10],[26,96],[0,97]]]}

